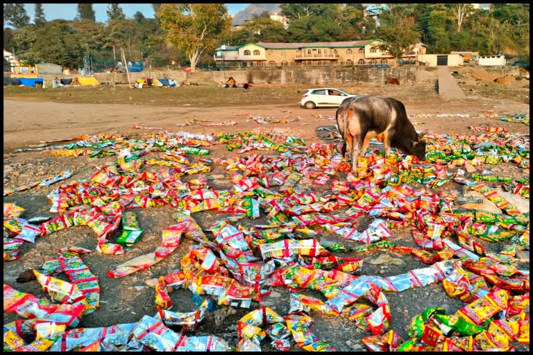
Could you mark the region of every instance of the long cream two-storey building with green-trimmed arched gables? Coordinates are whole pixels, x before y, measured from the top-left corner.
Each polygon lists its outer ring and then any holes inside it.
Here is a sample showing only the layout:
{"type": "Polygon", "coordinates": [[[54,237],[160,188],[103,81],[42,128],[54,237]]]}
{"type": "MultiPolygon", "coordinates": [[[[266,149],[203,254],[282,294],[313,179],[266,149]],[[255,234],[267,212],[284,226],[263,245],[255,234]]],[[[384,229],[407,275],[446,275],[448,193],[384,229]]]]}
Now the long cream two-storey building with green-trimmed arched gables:
{"type": "MultiPolygon", "coordinates": [[[[246,43],[215,49],[217,67],[287,67],[300,65],[393,64],[389,53],[378,46],[383,40],[312,43],[246,43]]],[[[425,45],[413,46],[413,54],[402,59],[416,60],[425,45]]]]}

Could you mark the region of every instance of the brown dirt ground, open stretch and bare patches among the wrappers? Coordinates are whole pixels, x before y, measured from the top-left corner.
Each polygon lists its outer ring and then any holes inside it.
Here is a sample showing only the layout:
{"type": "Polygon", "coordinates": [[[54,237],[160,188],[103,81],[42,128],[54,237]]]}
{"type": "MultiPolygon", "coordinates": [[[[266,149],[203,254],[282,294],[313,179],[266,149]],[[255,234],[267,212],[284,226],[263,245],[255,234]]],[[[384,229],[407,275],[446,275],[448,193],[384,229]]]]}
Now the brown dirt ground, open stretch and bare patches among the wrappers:
{"type": "MultiPolygon", "coordinates": [[[[161,130],[134,129],[135,124],[144,127],[164,128],[172,132],[186,130],[189,132],[246,132],[246,131],[274,131],[285,135],[301,137],[310,142],[324,142],[327,132],[319,128],[335,130],[334,121],[328,117],[335,116],[335,108],[305,110],[299,107],[299,100],[305,89],[312,85],[254,85],[252,89],[221,89],[206,87],[181,87],[173,89],[128,89],[125,87],[99,88],[69,88],[69,89],[40,89],[5,87],[3,94],[3,185],[4,189],[29,184],[36,180],[58,175],[60,171],[70,169],[74,171],[72,178],[60,182],[72,182],[89,178],[95,171],[95,165],[110,164],[116,157],[57,157],[49,151],[32,151],[16,153],[17,148],[35,148],[46,146],[44,141],[71,139],[79,135],[94,135],[97,133],[119,133],[122,135],[147,135],[161,130]],[[248,116],[262,116],[282,119],[287,123],[261,125],[248,116]],[[205,127],[200,123],[187,126],[179,124],[197,120],[209,120],[207,123],[221,123],[235,121],[237,124],[224,127],[205,127]],[[176,125],[178,124],[178,125],[176,125]]],[[[525,103],[520,98],[498,96],[500,93],[487,97],[471,95],[461,101],[444,101],[434,91],[434,83],[403,84],[399,86],[386,85],[332,85],[353,94],[374,94],[398,98],[405,103],[407,113],[413,116],[423,114],[471,114],[471,117],[413,117],[411,121],[417,130],[428,130],[436,133],[479,134],[468,130],[471,125],[490,125],[507,128],[510,132],[529,132],[529,127],[521,123],[498,121],[493,118],[476,117],[480,111],[492,110],[496,113],[529,112],[529,101],[525,103]]],[[[529,95],[529,90],[527,92],[529,95]]],[[[330,141],[328,141],[330,142],[330,141]]],[[[61,144],[58,142],[57,144],[61,144]]],[[[223,146],[210,147],[210,157],[230,157],[232,153],[223,146]]],[[[235,154],[235,153],[233,153],[235,154]]],[[[194,157],[196,161],[197,157],[194,157]]],[[[481,166],[480,169],[492,168],[481,166]]],[[[514,178],[529,179],[529,171],[516,167],[514,164],[499,164],[498,175],[514,178]]],[[[210,174],[225,173],[224,169],[216,166],[210,174]]],[[[205,174],[192,175],[191,178],[205,177],[205,174]]],[[[186,181],[186,179],[184,179],[186,181]]],[[[496,187],[497,183],[489,183],[496,187]]],[[[4,198],[4,202],[15,202],[26,209],[23,218],[35,216],[50,216],[50,202],[46,195],[56,185],[49,187],[35,187],[28,191],[14,193],[4,198]]],[[[221,182],[215,184],[216,189],[229,189],[231,184],[221,182]]],[[[460,187],[454,182],[445,185],[447,189],[460,187]]],[[[313,191],[316,187],[309,186],[313,191]]],[[[453,191],[452,189],[452,191],[453,191]]],[[[155,250],[160,244],[161,230],[175,224],[171,218],[174,211],[170,208],[135,209],[139,224],[144,230],[139,243],[130,252],[122,255],[105,255],[93,252],[83,256],[85,263],[92,272],[99,277],[101,288],[101,309],[82,318],[78,327],[103,327],[117,323],[136,322],[143,315],[155,314],[154,290],[144,282],[154,277],[167,275],[180,268],[180,259],[192,241],[183,239],[182,245],[169,257],[155,264],[148,270],[135,272],[128,277],[111,279],[106,275],[120,263],[155,250]]],[[[219,214],[205,211],[194,214],[194,218],[203,229],[219,218],[219,214]]],[[[257,220],[245,218],[244,225],[256,224],[257,220]]],[[[364,223],[363,223],[364,224],[364,223]]],[[[315,227],[316,232],[323,234],[323,229],[315,227]]],[[[410,230],[394,231],[392,242],[405,246],[416,246],[412,240],[410,230]]],[[[110,241],[115,241],[119,234],[115,233],[110,241]]],[[[346,241],[333,234],[323,234],[321,237],[331,241],[345,243],[346,241]]],[[[499,243],[484,243],[489,250],[499,251],[499,243]]],[[[39,268],[46,259],[57,257],[60,248],[79,246],[94,250],[96,238],[88,227],[71,227],[67,230],[37,239],[35,245],[25,243],[21,257],[17,261],[3,264],[3,280],[6,284],[37,297],[46,297],[46,293],[37,282],[18,284],[15,279],[20,272],[31,268],[39,268]]],[[[343,257],[362,257],[366,260],[375,259],[383,251],[350,252],[339,254],[343,257]]],[[[405,261],[405,265],[372,265],[365,263],[357,275],[397,275],[425,265],[415,257],[405,254],[394,255],[405,261]]],[[[529,268],[529,264],[521,268],[529,268]]],[[[66,279],[60,276],[59,278],[66,279]]],[[[275,288],[278,295],[266,298],[267,304],[280,315],[289,311],[289,291],[275,288]]],[[[314,291],[305,294],[321,297],[314,291]]],[[[391,329],[398,332],[403,340],[407,340],[406,327],[411,318],[430,306],[441,306],[448,314],[462,306],[463,302],[451,299],[444,292],[441,284],[432,284],[422,288],[412,288],[401,293],[387,293],[391,304],[391,329]]],[[[173,311],[191,311],[194,305],[191,293],[179,290],[171,293],[171,299],[176,306],[173,311]]],[[[259,306],[253,302],[251,309],[237,309],[237,313],[228,316],[217,327],[214,324],[212,312],[198,328],[197,335],[214,334],[228,341],[230,346],[237,344],[237,320],[244,314],[259,306]]],[[[529,313],[529,308],[527,309],[529,313]]],[[[12,313],[5,313],[4,323],[17,319],[12,313]]],[[[353,351],[354,347],[346,344],[362,345],[360,339],[369,336],[357,328],[353,322],[341,317],[312,313],[316,320],[311,329],[325,342],[339,350],[353,351]]],[[[514,343],[516,349],[528,350],[514,343]]],[[[273,350],[266,341],[262,342],[263,350],[273,350]]],[[[298,350],[298,347],[293,347],[298,350]]],[[[356,347],[356,350],[365,350],[356,347]]]]}

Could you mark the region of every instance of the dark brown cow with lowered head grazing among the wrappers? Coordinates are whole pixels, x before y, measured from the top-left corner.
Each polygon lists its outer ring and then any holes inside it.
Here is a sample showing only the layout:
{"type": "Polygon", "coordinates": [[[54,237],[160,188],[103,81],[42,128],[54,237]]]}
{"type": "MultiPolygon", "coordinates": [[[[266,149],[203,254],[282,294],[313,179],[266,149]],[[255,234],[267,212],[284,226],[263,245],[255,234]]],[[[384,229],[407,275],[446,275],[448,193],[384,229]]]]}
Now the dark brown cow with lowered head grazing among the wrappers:
{"type": "Polygon", "coordinates": [[[425,132],[418,134],[407,118],[405,106],[394,98],[353,96],[345,98],[335,113],[344,144],[342,156],[350,155],[351,173],[357,175],[357,157],[364,154],[371,138],[384,144],[385,157],[390,148],[425,159],[425,132]]]}

